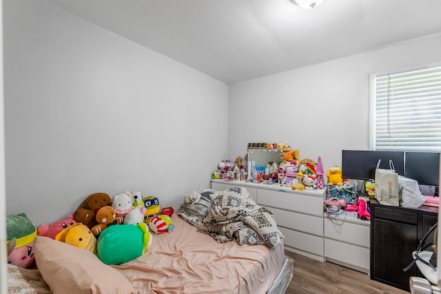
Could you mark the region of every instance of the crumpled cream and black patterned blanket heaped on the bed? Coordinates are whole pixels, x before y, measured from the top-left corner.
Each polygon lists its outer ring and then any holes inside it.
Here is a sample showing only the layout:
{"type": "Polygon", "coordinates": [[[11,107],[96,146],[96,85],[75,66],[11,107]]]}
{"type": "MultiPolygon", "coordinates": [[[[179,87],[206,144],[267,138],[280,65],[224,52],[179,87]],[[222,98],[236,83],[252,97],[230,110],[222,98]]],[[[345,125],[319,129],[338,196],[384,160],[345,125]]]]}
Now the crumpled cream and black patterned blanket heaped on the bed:
{"type": "Polygon", "coordinates": [[[205,229],[218,242],[236,240],[240,245],[280,244],[282,233],[274,214],[256,204],[244,187],[232,187],[211,195],[212,205],[202,218],[205,229]]]}

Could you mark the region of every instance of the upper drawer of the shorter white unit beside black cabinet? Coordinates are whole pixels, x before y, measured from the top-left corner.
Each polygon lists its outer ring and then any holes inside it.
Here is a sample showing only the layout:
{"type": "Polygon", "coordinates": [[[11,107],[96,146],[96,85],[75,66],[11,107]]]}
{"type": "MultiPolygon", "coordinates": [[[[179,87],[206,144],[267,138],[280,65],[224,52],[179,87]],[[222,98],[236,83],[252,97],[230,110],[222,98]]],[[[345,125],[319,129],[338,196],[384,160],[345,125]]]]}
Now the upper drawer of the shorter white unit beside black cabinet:
{"type": "Polygon", "coordinates": [[[340,240],[369,248],[370,228],[362,224],[325,218],[325,238],[340,240]]]}

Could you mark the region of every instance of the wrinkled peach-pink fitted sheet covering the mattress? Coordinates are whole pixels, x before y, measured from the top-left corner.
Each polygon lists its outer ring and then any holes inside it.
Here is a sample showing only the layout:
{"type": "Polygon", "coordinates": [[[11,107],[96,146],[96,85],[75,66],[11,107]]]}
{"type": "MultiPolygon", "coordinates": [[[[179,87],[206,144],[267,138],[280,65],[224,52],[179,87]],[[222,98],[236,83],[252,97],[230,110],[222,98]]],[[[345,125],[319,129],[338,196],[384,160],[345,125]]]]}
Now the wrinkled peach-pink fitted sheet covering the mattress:
{"type": "Polygon", "coordinates": [[[273,249],[222,244],[176,214],[172,221],[176,230],[153,236],[140,258],[113,266],[138,293],[267,293],[283,267],[283,242],[273,249]]]}

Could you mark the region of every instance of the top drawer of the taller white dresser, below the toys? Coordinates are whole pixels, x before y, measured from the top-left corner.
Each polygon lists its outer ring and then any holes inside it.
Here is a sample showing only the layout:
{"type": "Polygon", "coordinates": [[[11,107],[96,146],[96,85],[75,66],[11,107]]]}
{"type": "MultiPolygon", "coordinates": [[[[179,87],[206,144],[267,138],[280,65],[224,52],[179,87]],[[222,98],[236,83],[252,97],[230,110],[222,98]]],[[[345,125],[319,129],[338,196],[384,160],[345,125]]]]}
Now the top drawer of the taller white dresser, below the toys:
{"type": "Polygon", "coordinates": [[[290,211],[323,216],[323,198],[318,196],[258,189],[257,203],[266,207],[283,208],[290,211]]]}

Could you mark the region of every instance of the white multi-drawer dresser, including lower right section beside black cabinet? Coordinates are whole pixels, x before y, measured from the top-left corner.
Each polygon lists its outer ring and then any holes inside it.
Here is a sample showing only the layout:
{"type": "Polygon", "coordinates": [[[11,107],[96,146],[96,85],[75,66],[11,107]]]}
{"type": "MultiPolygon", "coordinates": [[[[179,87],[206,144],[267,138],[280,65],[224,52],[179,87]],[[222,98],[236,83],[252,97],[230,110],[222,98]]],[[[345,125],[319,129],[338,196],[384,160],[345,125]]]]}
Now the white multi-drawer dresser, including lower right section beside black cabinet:
{"type": "Polygon", "coordinates": [[[369,273],[370,222],[323,213],[325,190],[299,191],[278,184],[212,180],[212,189],[245,187],[274,212],[285,249],[369,273]]]}

